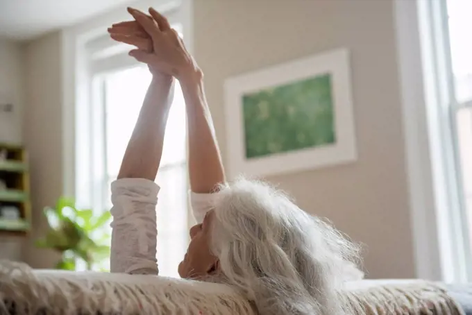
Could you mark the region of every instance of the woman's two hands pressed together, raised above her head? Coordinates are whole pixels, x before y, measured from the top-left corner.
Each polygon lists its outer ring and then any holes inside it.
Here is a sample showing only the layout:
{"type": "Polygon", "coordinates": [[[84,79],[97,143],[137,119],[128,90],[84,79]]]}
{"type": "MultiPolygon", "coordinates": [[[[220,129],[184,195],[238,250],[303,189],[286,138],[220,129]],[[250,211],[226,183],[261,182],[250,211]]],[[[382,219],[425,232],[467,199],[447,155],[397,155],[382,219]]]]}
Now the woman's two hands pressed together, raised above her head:
{"type": "Polygon", "coordinates": [[[124,22],[114,24],[108,32],[113,40],[137,47],[130,51],[130,56],[149,65],[151,71],[178,79],[199,71],[182,39],[163,15],[153,8],[149,8],[152,18],[133,8],[128,8],[128,12],[139,26],[124,22]]]}

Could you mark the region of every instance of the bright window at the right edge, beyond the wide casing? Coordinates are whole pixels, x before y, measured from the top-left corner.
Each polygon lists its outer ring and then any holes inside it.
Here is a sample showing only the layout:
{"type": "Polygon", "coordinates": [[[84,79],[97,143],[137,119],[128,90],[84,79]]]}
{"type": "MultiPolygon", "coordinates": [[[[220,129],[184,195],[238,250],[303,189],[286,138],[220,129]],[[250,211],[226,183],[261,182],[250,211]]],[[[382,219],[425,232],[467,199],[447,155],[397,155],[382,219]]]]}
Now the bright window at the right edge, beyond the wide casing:
{"type": "MultiPolygon", "coordinates": [[[[425,94],[438,223],[447,221],[452,281],[472,280],[472,27],[468,0],[417,1],[423,13],[425,94]],[[431,127],[432,126],[432,127],[431,127]],[[439,188],[438,188],[439,187],[439,188]],[[439,197],[438,197],[439,196],[439,197]],[[442,208],[442,209],[441,209],[442,208]]],[[[445,243],[444,243],[445,244],[445,243]]],[[[442,248],[444,250],[444,246],[442,248]]]]}

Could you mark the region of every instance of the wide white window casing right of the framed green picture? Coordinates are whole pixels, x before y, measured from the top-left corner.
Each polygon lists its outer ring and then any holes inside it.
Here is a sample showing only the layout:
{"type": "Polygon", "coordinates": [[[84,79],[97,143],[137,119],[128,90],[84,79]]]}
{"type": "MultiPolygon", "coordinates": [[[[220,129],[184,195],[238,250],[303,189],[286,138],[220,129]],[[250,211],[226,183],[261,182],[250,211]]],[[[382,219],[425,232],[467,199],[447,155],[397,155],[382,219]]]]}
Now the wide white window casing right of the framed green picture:
{"type": "Polygon", "coordinates": [[[416,276],[470,281],[447,3],[396,0],[394,6],[416,276]]]}

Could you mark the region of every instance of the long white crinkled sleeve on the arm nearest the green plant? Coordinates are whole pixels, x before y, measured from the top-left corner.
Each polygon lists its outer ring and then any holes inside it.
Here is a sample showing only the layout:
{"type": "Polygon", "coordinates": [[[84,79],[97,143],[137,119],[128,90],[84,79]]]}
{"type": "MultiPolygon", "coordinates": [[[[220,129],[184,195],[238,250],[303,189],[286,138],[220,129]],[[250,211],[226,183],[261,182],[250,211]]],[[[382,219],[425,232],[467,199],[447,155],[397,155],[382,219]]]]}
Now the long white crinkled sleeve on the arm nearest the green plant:
{"type": "Polygon", "coordinates": [[[159,187],[143,178],[112,182],[112,273],[158,274],[155,206],[159,187]]]}

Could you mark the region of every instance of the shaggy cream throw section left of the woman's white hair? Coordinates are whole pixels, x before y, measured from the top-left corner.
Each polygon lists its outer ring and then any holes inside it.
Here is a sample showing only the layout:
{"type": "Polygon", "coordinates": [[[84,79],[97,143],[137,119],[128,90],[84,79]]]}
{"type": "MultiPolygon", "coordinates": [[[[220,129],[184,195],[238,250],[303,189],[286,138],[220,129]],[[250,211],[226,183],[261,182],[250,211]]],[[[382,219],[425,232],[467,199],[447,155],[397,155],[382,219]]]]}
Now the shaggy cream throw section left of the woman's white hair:
{"type": "Polygon", "coordinates": [[[0,261],[0,314],[255,315],[223,284],[155,275],[33,271],[0,261]]]}

